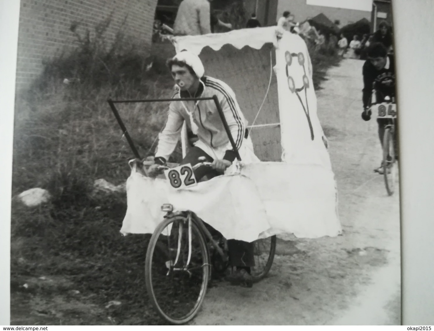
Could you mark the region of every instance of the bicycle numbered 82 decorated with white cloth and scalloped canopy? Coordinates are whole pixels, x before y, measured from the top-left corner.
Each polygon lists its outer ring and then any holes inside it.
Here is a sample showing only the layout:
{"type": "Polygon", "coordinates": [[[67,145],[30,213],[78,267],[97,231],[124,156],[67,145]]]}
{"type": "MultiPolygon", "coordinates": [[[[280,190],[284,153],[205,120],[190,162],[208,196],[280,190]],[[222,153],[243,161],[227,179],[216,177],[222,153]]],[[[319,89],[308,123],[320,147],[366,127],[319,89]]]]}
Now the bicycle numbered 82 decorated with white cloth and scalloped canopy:
{"type": "MultiPolygon", "coordinates": [[[[136,156],[130,161],[121,232],[153,234],[146,259],[148,294],[163,318],[181,324],[200,309],[210,273],[226,269],[226,240],[255,243],[258,262],[252,273],[260,280],[273,263],[276,235],[319,238],[342,230],[304,41],[286,32],[277,36],[275,27],[172,41],[177,52],[194,52],[208,76],[233,89],[260,159],[244,163],[238,155],[224,175],[199,183],[190,165],[174,165],[166,177],[150,178],[115,104],[161,99],[109,100],[136,156]]],[[[185,155],[185,123],[180,138],[185,155]]]]}

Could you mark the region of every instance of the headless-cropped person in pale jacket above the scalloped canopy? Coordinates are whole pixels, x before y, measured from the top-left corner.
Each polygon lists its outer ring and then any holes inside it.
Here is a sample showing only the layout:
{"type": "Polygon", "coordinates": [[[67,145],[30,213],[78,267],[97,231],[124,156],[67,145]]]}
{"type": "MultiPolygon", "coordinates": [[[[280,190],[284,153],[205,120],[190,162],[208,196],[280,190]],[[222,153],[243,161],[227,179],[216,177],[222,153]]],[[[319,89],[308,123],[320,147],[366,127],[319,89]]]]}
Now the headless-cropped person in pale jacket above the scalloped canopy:
{"type": "Polygon", "coordinates": [[[211,33],[210,2],[183,0],[178,8],[173,27],[175,36],[197,36],[211,33]]]}

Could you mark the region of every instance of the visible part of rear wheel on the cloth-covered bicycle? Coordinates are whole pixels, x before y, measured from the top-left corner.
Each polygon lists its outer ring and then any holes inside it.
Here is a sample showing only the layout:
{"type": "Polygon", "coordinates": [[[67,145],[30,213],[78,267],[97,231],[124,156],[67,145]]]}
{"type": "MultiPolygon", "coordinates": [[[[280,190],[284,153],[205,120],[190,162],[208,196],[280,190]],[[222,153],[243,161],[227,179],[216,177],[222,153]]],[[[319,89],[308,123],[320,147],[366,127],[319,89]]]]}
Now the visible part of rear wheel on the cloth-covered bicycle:
{"type": "Polygon", "coordinates": [[[255,266],[251,268],[253,282],[259,282],[270,272],[276,254],[276,236],[258,239],[254,244],[255,266]]]}

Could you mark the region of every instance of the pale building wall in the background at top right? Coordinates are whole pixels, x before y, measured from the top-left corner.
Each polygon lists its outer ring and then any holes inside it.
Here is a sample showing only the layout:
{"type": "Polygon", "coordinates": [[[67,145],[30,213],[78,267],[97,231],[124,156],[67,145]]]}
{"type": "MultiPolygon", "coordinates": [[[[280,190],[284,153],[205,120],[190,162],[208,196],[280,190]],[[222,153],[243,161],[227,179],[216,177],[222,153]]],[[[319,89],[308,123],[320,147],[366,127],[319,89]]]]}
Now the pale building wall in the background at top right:
{"type": "Polygon", "coordinates": [[[332,22],[339,20],[341,27],[349,23],[355,23],[362,18],[365,18],[369,21],[371,20],[370,11],[312,6],[306,4],[306,0],[278,0],[277,20],[283,15],[285,10],[289,10],[292,14],[294,14],[295,19],[298,22],[302,22],[309,17],[314,17],[319,13],[323,13],[332,22]]]}

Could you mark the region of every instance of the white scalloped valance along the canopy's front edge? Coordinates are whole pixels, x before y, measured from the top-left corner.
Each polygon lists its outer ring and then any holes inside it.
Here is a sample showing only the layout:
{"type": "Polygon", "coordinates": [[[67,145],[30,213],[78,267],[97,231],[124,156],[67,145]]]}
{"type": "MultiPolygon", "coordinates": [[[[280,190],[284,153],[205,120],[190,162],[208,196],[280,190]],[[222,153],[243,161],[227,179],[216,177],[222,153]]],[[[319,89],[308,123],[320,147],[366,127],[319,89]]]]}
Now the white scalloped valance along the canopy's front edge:
{"type": "Polygon", "coordinates": [[[266,43],[273,43],[275,47],[277,46],[276,28],[276,26],[270,26],[233,30],[227,33],[210,33],[201,36],[175,36],[171,40],[177,53],[187,49],[196,55],[199,55],[206,46],[218,51],[226,44],[230,44],[237,49],[242,49],[245,46],[261,49],[266,43]]]}

